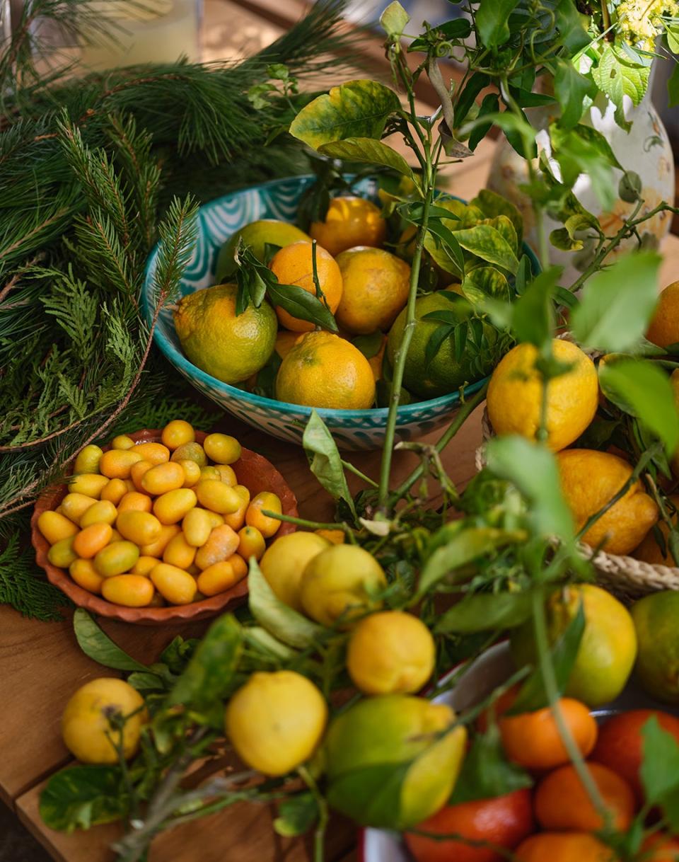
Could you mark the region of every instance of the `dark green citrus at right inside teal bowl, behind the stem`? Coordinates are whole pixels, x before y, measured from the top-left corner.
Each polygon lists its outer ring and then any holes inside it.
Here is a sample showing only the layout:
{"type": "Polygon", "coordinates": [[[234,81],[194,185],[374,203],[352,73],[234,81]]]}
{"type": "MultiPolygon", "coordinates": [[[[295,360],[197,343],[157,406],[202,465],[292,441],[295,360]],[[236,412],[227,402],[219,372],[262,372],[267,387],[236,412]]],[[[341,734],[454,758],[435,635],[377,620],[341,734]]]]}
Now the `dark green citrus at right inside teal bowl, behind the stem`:
{"type": "MultiPolygon", "coordinates": [[[[415,301],[415,320],[413,338],[408,347],[408,357],[403,371],[403,386],[423,398],[438,398],[448,395],[464,384],[473,383],[488,374],[495,365],[496,357],[493,346],[498,332],[488,322],[480,322],[487,346],[483,351],[473,352],[468,346],[461,359],[455,356],[455,344],[452,338],[446,338],[439,347],[438,353],[427,364],[427,342],[433,333],[441,326],[438,321],[424,321],[422,317],[432,312],[445,312],[459,317],[463,322],[466,317],[467,305],[457,294],[439,290],[419,297],[415,301]],[[454,297],[451,301],[450,298],[454,297]]],[[[389,331],[387,340],[387,358],[391,365],[396,360],[396,351],[401,346],[403,330],[406,325],[407,309],[403,309],[396,317],[389,331]]]]}

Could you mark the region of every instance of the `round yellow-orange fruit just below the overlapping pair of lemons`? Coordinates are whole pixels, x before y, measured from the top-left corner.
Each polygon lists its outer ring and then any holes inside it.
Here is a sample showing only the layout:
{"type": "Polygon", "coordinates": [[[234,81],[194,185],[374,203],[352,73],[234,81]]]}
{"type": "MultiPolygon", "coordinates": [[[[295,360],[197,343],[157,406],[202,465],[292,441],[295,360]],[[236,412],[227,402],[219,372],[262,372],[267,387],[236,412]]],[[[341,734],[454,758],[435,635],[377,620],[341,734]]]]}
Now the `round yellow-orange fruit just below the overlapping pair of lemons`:
{"type": "Polygon", "coordinates": [[[432,634],[412,614],[384,610],[358,622],[349,639],[346,669],[367,695],[411,694],[431,677],[432,634]]]}

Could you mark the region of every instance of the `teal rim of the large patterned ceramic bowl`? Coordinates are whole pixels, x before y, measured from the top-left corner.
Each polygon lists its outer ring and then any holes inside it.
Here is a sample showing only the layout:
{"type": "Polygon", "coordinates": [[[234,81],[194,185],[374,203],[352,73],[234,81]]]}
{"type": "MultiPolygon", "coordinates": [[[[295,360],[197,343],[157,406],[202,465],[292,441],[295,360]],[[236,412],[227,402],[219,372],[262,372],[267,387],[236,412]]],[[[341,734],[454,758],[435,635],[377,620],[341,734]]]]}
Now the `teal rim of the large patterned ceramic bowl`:
{"type": "MultiPolygon", "coordinates": [[[[236,189],[235,191],[231,191],[226,195],[221,195],[220,197],[215,197],[211,201],[207,203],[203,203],[201,207],[198,209],[198,213],[204,212],[206,210],[212,209],[214,207],[218,207],[226,203],[227,201],[233,200],[234,197],[244,195],[251,191],[259,191],[260,189],[266,189],[270,187],[275,187],[277,185],[281,185],[284,183],[290,183],[291,180],[312,180],[315,178],[314,174],[297,174],[292,175],[290,177],[281,177],[277,179],[267,180],[265,183],[258,183],[254,185],[248,185],[243,187],[242,189],[236,189]]],[[[452,197],[458,201],[463,201],[461,197],[457,197],[455,195],[446,195],[445,197],[452,197]]],[[[466,201],[463,201],[466,203],[466,201]]],[[[196,216],[197,217],[197,216],[196,216]]],[[[292,223],[292,222],[290,222],[292,223]]],[[[536,257],[533,249],[527,245],[524,241],[521,245],[524,253],[528,256],[531,261],[531,265],[533,266],[533,270],[535,272],[540,271],[539,261],[536,257]]],[[[150,280],[151,280],[151,268],[158,254],[159,241],[153,246],[151,252],[146,259],[146,266],[144,269],[144,285],[141,290],[141,309],[142,314],[146,317],[146,322],[151,324],[153,320],[153,311],[151,308],[151,303],[149,302],[150,296],[150,280]]],[[[198,368],[197,365],[194,365],[184,356],[184,353],[181,353],[177,347],[175,347],[171,341],[167,338],[164,332],[162,332],[156,323],[156,327],[153,330],[153,340],[157,342],[158,347],[160,348],[161,353],[165,354],[165,357],[171,362],[172,365],[175,365],[180,370],[184,370],[187,376],[190,378],[197,378],[202,384],[209,386],[213,390],[221,390],[224,394],[229,397],[233,397],[235,400],[240,401],[241,403],[249,403],[253,407],[259,407],[267,410],[277,410],[282,413],[302,413],[307,419],[311,415],[311,411],[315,409],[316,413],[321,416],[321,419],[331,427],[336,426],[338,420],[340,422],[346,421],[377,421],[383,425],[386,422],[387,416],[389,414],[388,407],[371,407],[367,409],[361,410],[346,410],[346,409],[330,409],[330,408],[314,408],[308,407],[306,404],[293,404],[287,401],[278,401],[276,398],[267,398],[265,396],[256,395],[254,392],[248,392],[247,390],[240,389],[238,386],[234,386],[233,384],[227,384],[223,381],[212,377],[211,374],[207,372],[203,372],[202,369],[198,368]]],[[[454,392],[449,393],[448,395],[442,395],[436,398],[428,398],[424,401],[416,401],[410,404],[402,404],[396,410],[396,418],[399,422],[408,423],[411,421],[418,421],[418,414],[422,410],[434,410],[438,411],[439,409],[445,409],[446,407],[451,406],[452,404],[457,404],[462,401],[462,397],[474,395],[478,390],[480,390],[484,384],[486,384],[489,380],[489,376],[482,378],[481,380],[477,380],[474,383],[467,384],[460,389],[455,390],[454,392]]]]}

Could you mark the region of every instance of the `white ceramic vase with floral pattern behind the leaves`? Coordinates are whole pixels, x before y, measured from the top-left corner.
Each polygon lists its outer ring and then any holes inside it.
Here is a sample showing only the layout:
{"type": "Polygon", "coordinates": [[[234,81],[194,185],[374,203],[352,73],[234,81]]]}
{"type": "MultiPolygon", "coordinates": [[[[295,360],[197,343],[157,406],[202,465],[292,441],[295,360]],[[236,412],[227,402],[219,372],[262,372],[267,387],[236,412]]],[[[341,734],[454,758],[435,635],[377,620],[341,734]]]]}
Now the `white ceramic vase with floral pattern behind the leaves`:
{"type": "MultiPolygon", "coordinates": [[[[539,131],[540,141],[547,140],[545,129],[549,123],[556,119],[556,113],[552,106],[539,109],[530,109],[527,112],[535,128],[539,131]]],[[[650,93],[647,93],[637,108],[630,106],[626,110],[626,117],[632,122],[632,128],[626,132],[620,128],[614,119],[614,104],[604,97],[599,97],[595,104],[589,109],[582,122],[595,128],[604,135],[611,145],[620,165],[627,171],[635,171],[641,178],[641,197],[644,206],[640,212],[643,215],[651,209],[655,209],[661,201],[674,203],[675,199],[675,166],[672,147],[663,122],[651,103],[650,93]]],[[[558,165],[553,165],[558,176],[558,165]]],[[[617,194],[618,182],[622,172],[614,169],[614,182],[617,194]]],[[[526,197],[520,189],[520,184],[526,182],[526,162],[501,138],[501,142],[495,151],[495,157],[490,167],[488,187],[503,197],[508,198],[519,207],[526,225],[526,241],[536,251],[538,250],[537,232],[535,229],[535,214],[530,198],[526,197]]],[[[619,197],[610,211],[604,212],[598,202],[589,177],[581,174],[574,188],[576,197],[589,212],[599,219],[601,228],[607,235],[616,234],[622,226],[623,220],[632,212],[635,203],[626,203],[619,197]]],[[[672,221],[671,213],[663,212],[654,215],[648,222],[641,226],[641,234],[650,234],[658,242],[670,232],[672,221]]],[[[555,228],[563,227],[545,216],[545,230],[547,234],[555,228]]],[[[614,259],[631,247],[636,247],[636,240],[626,240],[621,243],[617,251],[609,259],[614,259]]],[[[584,247],[576,252],[563,252],[550,244],[550,259],[555,265],[564,266],[562,284],[572,284],[577,276],[587,268],[592,258],[594,240],[585,241],[584,247]]]]}

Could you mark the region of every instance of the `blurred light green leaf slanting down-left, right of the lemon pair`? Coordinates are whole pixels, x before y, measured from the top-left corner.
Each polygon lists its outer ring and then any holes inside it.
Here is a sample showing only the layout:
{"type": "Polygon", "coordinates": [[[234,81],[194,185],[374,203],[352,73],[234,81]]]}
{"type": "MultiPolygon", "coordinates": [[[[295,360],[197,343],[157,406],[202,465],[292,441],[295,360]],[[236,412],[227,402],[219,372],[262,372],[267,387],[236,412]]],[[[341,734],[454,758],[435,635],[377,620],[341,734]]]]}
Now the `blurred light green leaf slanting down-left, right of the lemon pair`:
{"type": "MultiPolygon", "coordinates": [[[[443,528],[443,533],[448,531],[443,528]]],[[[475,559],[493,553],[499,547],[513,544],[524,540],[526,535],[507,530],[491,527],[469,527],[456,530],[449,540],[439,547],[435,547],[433,553],[428,557],[420,573],[420,583],[417,588],[417,597],[424,596],[438,584],[441,578],[446,578],[449,584],[459,584],[470,578],[470,571],[466,566],[475,559]],[[456,577],[454,572],[458,572],[456,577]]],[[[433,536],[436,541],[436,534],[433,536]]]]}

